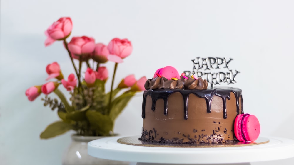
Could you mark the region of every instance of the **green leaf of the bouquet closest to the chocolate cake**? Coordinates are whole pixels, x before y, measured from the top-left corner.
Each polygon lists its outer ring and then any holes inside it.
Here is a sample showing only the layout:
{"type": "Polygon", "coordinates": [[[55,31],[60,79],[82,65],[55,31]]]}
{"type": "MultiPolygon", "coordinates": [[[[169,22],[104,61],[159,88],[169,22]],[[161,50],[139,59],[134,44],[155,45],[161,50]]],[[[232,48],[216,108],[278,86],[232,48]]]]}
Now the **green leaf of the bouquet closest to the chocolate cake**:
{"type": "Polygon", "coordinates": [[[136,94],[136,92],[123,93],[121,96],[115,98],[111,103],[111,110],[109,116],[111,120],[115,120],[118,115],[123,111],[131,98],[136,94]]]}

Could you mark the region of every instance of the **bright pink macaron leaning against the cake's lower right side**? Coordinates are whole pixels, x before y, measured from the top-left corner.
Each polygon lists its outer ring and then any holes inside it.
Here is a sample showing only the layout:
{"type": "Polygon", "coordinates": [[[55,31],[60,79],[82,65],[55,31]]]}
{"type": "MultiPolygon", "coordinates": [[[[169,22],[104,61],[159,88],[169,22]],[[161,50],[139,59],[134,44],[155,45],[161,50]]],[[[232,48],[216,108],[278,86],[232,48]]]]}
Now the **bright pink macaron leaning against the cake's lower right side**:
{"type": "Polygon", "coordinates": [[[256,116],[247,114],[237,115],[235,118],[235,136],[239,141],[254,142],[260,133],[260,124],[256,116]]]}

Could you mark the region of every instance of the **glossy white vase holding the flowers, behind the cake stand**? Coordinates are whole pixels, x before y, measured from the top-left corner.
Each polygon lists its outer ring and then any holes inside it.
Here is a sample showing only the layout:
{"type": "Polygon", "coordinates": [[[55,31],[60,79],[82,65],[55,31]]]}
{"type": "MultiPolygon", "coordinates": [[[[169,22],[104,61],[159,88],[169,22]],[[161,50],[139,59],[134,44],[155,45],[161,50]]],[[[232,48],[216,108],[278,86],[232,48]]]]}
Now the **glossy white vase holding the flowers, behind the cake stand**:
{"type": "Polygon", "coordinates": [[[128,165],[129,162],[100,159],[88,155],[88,142],[103,137],[107,136],[72,135],[71,144],[64,152],[62,165],[128,165]]]}

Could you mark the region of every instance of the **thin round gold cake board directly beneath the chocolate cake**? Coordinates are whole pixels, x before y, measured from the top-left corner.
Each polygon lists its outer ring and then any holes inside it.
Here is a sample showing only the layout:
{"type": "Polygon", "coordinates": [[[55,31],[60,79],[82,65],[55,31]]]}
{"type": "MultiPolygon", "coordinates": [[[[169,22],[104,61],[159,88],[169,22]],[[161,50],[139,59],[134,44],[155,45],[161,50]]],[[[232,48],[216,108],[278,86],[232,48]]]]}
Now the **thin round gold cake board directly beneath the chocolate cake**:
{"type": "Polygon", "coordinates": [[[138,136],[122,137],[117,140],[118,143],[146,146],[146,147],[175,147],[175,148],[210,148],[210,147],[242,147],[268,143],[268,138],[259,137],[255,142],[228,142],[228,143],[210,143],[210,144],[174,144],[174,143],[156,143],[139,140],[138,136]]]}

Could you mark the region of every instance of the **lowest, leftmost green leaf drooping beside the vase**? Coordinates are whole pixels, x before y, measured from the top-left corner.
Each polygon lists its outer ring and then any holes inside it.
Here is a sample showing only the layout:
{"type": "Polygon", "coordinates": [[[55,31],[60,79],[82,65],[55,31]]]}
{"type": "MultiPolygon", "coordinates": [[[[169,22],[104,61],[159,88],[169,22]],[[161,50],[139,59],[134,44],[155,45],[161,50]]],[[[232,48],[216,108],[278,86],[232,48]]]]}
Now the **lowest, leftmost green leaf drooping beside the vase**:
{"type": "Polygon", "coordinates": [[[57,135],[61,135],[69,130],[73,129],[73,126],[69,123],[65,123],[63,121],[56,121],[50,125],[41,133],[41,139],[48,139],[51,137],[55,137],[57,135]]]}

